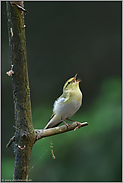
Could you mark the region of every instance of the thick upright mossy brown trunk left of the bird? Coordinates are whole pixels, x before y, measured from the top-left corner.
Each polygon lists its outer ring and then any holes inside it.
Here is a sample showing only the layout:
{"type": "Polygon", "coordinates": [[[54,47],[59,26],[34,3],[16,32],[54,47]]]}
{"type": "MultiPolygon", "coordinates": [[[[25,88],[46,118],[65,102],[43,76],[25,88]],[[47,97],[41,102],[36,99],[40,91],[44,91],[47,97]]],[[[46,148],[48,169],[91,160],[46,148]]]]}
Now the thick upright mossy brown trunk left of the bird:
{"type": "Polygon", "coordinates": [[[23,1],[6,2],[13,102],[15,110],[14,181],[27,181],[31,149],[35,140],[27,71],[23,1]],[[23,148],[24,147],[24,148],[23,148]]]}

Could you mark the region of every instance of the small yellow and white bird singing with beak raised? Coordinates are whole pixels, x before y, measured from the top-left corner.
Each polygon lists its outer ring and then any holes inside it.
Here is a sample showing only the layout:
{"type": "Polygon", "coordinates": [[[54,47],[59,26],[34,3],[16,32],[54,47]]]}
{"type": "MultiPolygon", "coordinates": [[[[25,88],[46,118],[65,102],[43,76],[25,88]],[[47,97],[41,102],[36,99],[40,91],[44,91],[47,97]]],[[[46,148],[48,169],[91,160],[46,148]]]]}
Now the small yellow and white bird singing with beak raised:
{"type": "MultiPolygon", "coordinates": [[[[80,79],[76,80],[77,74],[68,79],[63,87],[63,94],[54,102],[53,114],[51,115],[44,129],[57,127],[64,122],[68,127],[69,124],[65,120],[75,122],[69,119],[72,117],[82,105],[82,92],[79,88],[80,79]]],[[[78,123],[79,128],[81,123],[78,123]]]]}

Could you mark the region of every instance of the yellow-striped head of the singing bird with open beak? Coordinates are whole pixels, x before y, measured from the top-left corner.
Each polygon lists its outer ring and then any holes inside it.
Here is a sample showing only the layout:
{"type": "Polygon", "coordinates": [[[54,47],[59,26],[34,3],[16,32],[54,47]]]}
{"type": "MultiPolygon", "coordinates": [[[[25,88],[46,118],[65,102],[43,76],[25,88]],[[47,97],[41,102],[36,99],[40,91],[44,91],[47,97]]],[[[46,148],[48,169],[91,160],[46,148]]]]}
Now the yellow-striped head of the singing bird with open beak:
{"type": "Polygon", "coordinates": [[[63,87],[63,91],[67,91],[67,90],[75,90],[77,88],[79,88],[79,82],[81,80],[76,80],[77,74],[73,77],[67,80],[67,82],[65,83],[64,87],[63,87]]]}

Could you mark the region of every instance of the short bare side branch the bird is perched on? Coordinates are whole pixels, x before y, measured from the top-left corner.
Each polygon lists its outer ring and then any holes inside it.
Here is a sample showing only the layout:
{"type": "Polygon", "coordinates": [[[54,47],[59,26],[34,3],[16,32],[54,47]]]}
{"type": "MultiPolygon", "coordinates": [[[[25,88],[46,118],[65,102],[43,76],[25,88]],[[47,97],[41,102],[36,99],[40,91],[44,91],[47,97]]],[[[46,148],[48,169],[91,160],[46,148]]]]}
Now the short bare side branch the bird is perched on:
{"type": "MultiPolygon", "coordinates": [[[[79,128],[87,126],[88,123],[84,122],[84,123],[79,123],[79,128]]],[[[44,137],[49,137],[52,135],[57,135],[60,133],[64,133],[64,132],[68,132],[71,130],[75,130],[75,128],[78,126],[78,122],[73,122],[73,123],[69,123],[68,126],[66,125],[62,125],[62,126],[58,126],[58,127],[54,127],[54,128],[49,128],[49,129],[35,129],[35,142],[41,138],[44,137]]]]}

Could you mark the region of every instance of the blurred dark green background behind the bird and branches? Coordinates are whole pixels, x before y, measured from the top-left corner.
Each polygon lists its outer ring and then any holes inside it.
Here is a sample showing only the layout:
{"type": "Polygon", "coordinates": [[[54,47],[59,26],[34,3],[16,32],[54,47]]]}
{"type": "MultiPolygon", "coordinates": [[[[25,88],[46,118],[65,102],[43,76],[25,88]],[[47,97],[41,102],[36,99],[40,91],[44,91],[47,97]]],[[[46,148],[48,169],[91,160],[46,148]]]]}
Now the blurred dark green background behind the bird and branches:
{"type": "MultiPolygon", "coordinates": [[[[14,134],[6,4],[2,7],[2,180],[12,180],[14,134]]],[[[83,105],[72,117],[89,125],[38,141],[32,181],[121,181],[122,2],[25,2],[34,128],[44,128],[67,79],[78,73],[83,105]],[[56,159],[52,159],[50,142],[56,159]]],[[[33,169],[31,167],[34,166],[33,169]]]]}

